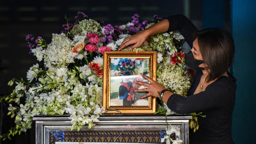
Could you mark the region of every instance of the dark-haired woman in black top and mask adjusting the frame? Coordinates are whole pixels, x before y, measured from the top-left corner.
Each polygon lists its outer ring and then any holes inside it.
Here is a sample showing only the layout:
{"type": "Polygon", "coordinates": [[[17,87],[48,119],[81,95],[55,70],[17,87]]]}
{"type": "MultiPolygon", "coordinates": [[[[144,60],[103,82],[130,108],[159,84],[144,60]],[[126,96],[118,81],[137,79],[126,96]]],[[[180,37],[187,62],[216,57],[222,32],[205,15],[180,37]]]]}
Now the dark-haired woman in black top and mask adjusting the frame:
{"type": "Polygon", "coordinates": [[[203,112],[206,118],[198,118],[200,128],[195,133],[189,133],[190,144],[233,144],[231,120],[236,99],[236,79],[228,72],[234,57],[234,42],[227,31],[198,31],[188,18],[174,15],[124,39],[119,50],[125,46],[139,47],[150,35],[174,30],[179,30],[192,48],[185,57],[185,63],[196,70],[188,96],[184,98],[173,94],[145,75],[143,77],[150,83],[137,81],[137,84],[147,88],[136,91],[148,92],[141,98],[162,98],[171,110],[179,114],[203,112]],[[196,33],[195,37],[193,33],[196,33]]]}

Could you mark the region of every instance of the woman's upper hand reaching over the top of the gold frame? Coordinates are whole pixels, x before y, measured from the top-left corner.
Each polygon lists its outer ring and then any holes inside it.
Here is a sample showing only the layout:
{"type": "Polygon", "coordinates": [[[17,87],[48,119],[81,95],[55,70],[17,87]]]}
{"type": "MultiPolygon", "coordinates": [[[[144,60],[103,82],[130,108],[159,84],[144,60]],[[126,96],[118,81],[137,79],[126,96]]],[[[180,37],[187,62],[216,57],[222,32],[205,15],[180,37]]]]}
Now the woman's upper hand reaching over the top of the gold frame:
{"type": "Polygon", "coordinates": [[[125,48],[126,46],[132,45],[130,47],[130,49],[133,48],[137,48],[139,46],[141,46],[147,39],[147,37],[149,36],[149,32],[146,30],[143,30],[139,33],[136,33],[135,35],[132,35],[130,37],[127,37],[126,39],[124,39],[124,41],[121,43],[121,45],[119,46],[118,50],[122,50],[123,48],[125,48]]]}

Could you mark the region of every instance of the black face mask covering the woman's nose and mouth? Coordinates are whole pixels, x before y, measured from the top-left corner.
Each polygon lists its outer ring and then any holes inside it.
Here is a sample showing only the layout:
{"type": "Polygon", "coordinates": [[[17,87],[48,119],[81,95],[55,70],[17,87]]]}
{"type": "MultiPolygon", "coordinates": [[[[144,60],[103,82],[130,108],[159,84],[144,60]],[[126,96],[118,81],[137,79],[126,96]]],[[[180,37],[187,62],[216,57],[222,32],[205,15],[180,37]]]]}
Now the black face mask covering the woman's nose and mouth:
{"type": "Polygon", "coordinates": [[[199,67],[200,64],[204,63],[204,61],[200,61],[194,58],[192,51],[189,51],[185,54],[185,64],[192,68],[193,70],[203,70],[204,68],[199,67]]]}

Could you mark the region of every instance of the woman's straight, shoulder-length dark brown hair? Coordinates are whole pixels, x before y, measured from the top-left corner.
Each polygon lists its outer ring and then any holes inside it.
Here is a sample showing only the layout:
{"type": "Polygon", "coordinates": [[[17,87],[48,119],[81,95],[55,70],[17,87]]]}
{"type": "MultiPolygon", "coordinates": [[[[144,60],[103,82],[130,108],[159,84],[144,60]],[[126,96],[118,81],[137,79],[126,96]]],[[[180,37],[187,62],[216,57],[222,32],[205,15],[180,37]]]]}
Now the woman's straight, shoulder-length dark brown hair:
{"type": "Polygon", "coordinates": [[[235,46],[232,36],[226,30],[211,28],[198,31],[195,37],[204,63],[210,69],[207,82],[219,78],[233,62],[235,46]]]}

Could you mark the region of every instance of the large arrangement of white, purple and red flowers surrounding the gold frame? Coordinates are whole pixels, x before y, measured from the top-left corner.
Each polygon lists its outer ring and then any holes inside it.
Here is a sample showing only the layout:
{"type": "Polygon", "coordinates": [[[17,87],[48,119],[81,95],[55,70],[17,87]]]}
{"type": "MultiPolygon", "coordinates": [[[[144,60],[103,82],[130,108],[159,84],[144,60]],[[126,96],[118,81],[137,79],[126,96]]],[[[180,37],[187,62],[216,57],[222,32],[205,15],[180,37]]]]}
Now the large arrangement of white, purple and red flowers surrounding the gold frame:
{"type": "MultiPolygon", "coordinates": [[[[63,24],[60,34],[52,34],[52,42],[46,44],[42,37],[34,39],[26,36],[30,54],[37,57],[38,63],[30,67],[27,80],[12,79],[8,85],[16,84],[13,92],[2,96],[9,102],[8,115],[15,118],[15,127],[1,136],[3,140],[26,132],[31,128],[32,117],[39,114],[70,114],[71,130],[78,131],[82,126],[92,128],[104,113],[102,107],[102,66],[103,52],[115,51],[122,41],[139,31],[159,22],[154,15],[152,23],[139,22],[135,14],[132,21],[121,26],[96,22],[78,12],[74,24],[63,24]],[[22,102],[21,99],[25,99],[22,102]],[[13,103],[13,104],[11,104],[13,103]]],[[[190,87],[189,76],[184,66],[184,53],[181,45],[184,37],[178,31],[152,35],[139,48],[133,51],[158,52],[158,82],[167,89],[186,96],[190,87]]],[[[129,47],[124,50],[130,50],[129,47]]],[[[134,62],[121,61],[117,69],[122,74],[132,74],[134,62]]],[[[166,107],[166,106],[165,106],[166,107]]],[[[159,108],[161,111],[161,107],[159,108]]],[[[171,114],[166,110],[165,114],[171,114]]],[[[169,133],[170,131],[168,131],[169,133]]],[[[170,133],[175,132],[173,129],[170,133]]]]}

